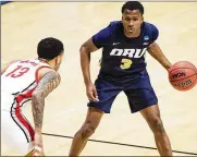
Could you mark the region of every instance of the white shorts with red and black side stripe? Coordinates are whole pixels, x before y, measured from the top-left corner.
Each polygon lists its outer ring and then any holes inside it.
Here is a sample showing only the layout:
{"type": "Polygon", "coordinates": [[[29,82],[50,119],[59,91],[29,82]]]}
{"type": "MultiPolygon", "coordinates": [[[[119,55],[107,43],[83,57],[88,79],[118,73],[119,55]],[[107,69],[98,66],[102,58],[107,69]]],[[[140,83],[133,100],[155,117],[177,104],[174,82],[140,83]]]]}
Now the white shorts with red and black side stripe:
{"type": "Polygon", "coordinates": [[[34,130],[21,111],[1,110],[3,155],[25,156],[34,148],[34,130]]]}

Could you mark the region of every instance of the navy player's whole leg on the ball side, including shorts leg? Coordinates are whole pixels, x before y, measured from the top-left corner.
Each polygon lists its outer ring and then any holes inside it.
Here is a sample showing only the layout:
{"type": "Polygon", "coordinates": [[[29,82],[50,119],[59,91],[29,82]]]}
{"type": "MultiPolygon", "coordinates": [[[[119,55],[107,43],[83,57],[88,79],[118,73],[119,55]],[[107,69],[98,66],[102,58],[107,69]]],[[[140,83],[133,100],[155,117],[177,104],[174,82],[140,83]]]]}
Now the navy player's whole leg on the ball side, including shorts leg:
{"type": "Polygon", "coordinates": [[[152,130],[160,155],[171,156],[170,141],[160,118],[158,98],[151,87],[148,73],[144,72],[143,76],[124,92],[132,112],[140,111],[152,130]]]}

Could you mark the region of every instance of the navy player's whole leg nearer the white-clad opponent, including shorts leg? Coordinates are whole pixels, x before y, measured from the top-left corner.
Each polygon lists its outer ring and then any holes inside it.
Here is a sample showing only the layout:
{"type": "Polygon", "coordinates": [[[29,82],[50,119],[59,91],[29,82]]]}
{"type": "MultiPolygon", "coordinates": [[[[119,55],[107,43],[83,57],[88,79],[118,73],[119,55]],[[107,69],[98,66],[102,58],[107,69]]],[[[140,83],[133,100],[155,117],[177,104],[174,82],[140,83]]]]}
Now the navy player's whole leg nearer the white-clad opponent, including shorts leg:
{"type": "Polygon", "coordinates": [[[88,112],[86,120],[79,131],[74,135],[72,146],[70,149],[70,156],[78,156],[84,149],[88,137],[93,135],[95,130],[100,123],[103,113],[109,113],[111,105],[116,95],[121,92],[121,88],[115,86],[109,81],[98,78],[96,81],[96,88],[99,101],[90,101],[88,104],[88,112]]]}

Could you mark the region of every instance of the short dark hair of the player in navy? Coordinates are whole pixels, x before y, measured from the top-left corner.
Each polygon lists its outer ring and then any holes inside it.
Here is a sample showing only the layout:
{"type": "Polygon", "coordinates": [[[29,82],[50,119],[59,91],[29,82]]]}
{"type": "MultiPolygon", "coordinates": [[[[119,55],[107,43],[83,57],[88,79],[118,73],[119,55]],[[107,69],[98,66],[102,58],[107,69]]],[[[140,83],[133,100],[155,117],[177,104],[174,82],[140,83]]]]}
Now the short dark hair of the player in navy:
{"type": "Polygon", "coordinates": [[[123,7],[122,7],[122,13],[125,11],[125,10],[131,10],[131,11],[133,11],[133,10],[138,10],[140,13],[141,13],[141,15],[144,14],[144,7],[143,7],[143,4],[140,3],[140,2],[138,2],[138,1],[127,1],[127,2],[125,2],[124,4],[123,4],[123,7]]]}

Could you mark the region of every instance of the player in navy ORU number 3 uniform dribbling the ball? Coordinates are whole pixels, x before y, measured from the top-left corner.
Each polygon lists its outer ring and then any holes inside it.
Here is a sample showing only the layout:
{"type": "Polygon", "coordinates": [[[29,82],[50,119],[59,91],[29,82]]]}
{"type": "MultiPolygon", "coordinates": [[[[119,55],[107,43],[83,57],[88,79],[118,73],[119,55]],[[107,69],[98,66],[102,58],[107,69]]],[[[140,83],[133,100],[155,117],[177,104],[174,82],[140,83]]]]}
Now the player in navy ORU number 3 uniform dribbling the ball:
{"type": "Polygon", "coordinates": [[[158,98],[146,70],[146,50],[168,71],[171,67],[156,39],[158,28],[144,22],[144,7],[128,1],[122,7],[122,21],[94,35],[81,47],[81,64],[86,85],[88,112],[75,134],[70,156],[78,156],[88,137],[95,132],[103,113],[110,113],[113,100],[120,92],[127,96],[132,112],[139,111],[150,126],[161,156],[172,156],[171,144],[164,131],[158,98]],[[95,85],[90,78],[90,52],[102,48],[101,69],[95,85]]]}

